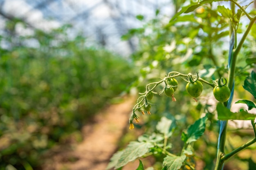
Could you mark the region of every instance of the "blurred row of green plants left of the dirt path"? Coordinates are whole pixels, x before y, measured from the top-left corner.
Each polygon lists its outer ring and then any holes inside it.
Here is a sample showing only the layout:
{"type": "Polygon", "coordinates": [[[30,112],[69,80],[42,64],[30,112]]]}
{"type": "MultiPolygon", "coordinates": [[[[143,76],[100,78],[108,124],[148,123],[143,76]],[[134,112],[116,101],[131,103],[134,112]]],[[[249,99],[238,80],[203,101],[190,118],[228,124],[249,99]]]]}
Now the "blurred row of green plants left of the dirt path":
{"type": "Polygon", "coordinates": [[[134,78],[124,57],[87,47],[82,35],[69,38],[70,25],[30,35],[17,26],[25,23],[7,21],[0,35],[0,170],[38,167],[134,78]]]}

